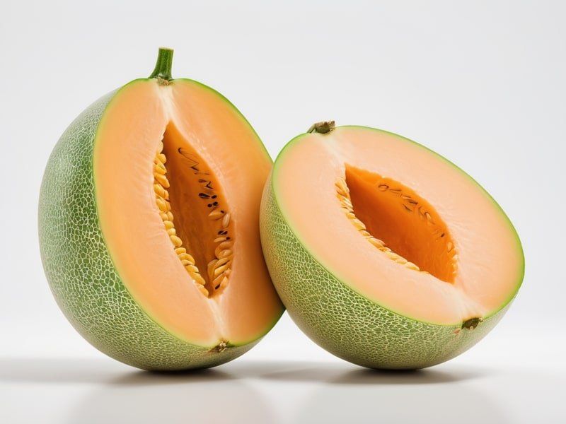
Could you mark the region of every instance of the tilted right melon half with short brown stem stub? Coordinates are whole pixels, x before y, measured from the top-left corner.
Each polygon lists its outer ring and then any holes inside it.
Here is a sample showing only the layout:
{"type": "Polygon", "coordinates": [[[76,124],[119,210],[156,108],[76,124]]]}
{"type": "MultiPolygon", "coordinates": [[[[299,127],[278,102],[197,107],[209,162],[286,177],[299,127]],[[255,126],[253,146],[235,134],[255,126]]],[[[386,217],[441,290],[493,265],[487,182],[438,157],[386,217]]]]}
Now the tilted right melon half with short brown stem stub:
{"type": "Polygon", "coordinates": [[[262,247],[296,324],[371,368],[454,358],[490,331],[524,274],[509,218],[463,170],[379,129],[315,124],[265,184],[262,247]]]}

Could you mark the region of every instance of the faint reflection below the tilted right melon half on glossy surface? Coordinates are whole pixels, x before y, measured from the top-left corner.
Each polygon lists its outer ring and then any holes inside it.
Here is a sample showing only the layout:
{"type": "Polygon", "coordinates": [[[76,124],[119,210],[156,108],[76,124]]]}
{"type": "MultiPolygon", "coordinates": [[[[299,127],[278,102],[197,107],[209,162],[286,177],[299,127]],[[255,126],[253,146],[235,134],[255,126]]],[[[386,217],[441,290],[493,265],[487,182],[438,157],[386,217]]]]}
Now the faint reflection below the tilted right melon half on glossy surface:
{"type": "Polygon", "coordinates": [[[319,384],[296,408],[292,421],[512,423],[497,401],[468,382],[481,375],[441,370],[345,371],[319,384]]]}

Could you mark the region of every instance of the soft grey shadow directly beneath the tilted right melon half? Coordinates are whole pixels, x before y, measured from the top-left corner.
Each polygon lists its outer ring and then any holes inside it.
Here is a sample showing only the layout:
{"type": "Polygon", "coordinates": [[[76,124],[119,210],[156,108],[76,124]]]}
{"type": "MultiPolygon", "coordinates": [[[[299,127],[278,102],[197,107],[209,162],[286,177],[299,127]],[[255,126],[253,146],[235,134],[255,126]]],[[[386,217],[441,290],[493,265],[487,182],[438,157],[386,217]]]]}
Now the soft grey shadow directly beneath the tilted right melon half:
{"type": "Polygon", "coordinates": [[[369,370],[348,363],[282,363],[274,369],[281,371],[266,372],[261,375],[265,379],[284,382],[324,382],[330,384],[446,384],[463,382],[487,375],[486,370],[369,370]],[[284,367],[284,370],[281,368],[284,367]]]}

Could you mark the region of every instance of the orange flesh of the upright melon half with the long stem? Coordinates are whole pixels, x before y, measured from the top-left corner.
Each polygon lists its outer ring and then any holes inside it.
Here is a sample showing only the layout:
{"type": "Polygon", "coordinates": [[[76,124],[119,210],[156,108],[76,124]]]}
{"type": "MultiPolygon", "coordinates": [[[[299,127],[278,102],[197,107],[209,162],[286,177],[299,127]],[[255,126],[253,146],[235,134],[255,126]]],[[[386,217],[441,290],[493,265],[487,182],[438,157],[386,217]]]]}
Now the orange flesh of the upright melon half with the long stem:
{"type": "Polygon", "coordinates": [[[139,80],[120,90],[97,133],[94,172],[100,227],[122,281],[140,307],[172,334],[200,346],[255,340],[282,305],[262,260],[258,211],[271,161],[231,105],[194,81],[168,86],[139,80]],[[140,124],[143,123],[143,124],[140,124]],[[154,192],[154,158],[163,139],[175,230],[207,279],[203,295],[175,254],[154,192]],[[188,157],[188,159],[187,159],[188,157]],[[198,194],[192,162],[231,213],[229,284],[215,292],[207,277],[218,220],[198,194]]]}

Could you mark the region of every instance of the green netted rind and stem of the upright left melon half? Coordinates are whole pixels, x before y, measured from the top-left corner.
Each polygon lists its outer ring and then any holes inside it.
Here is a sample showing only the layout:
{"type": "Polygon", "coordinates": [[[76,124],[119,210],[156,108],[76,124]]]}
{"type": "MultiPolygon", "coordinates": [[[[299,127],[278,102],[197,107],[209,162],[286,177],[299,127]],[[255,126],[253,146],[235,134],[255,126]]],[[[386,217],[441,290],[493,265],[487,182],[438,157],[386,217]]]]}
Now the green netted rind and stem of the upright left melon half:
{"type": "MultiPolygon", "coordinates": [[[[160,49],[150,78],[171,81],[172,55],[172,50],[160,49]]],[[[141,310],[105,245],[94,190],[93,149],[100,119],[119,95],[120,89],[112,91],[84,110],[64,131],[45,168],[39,199],[39,238],[52,293],[75,329],[98,350],[122,363],[144,370],[186,370],[226,363],[255,346],[280,314],[249,343],[226,348],[196,346],[173,336],[141,310]]],[[[231,107],[241,116],[236,107],[231,107]]],[[[258,148],[265,150],[261,143],[258,148]]]]}

